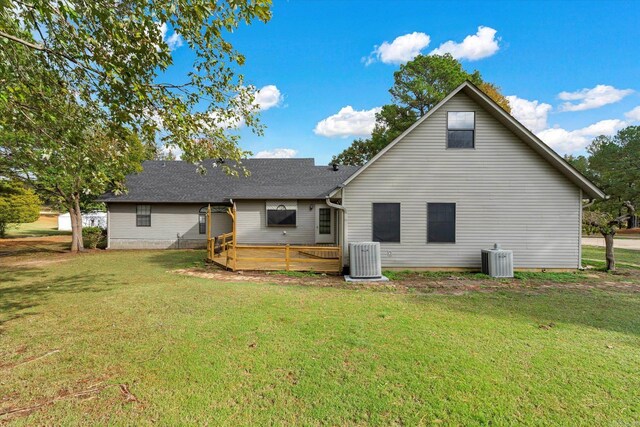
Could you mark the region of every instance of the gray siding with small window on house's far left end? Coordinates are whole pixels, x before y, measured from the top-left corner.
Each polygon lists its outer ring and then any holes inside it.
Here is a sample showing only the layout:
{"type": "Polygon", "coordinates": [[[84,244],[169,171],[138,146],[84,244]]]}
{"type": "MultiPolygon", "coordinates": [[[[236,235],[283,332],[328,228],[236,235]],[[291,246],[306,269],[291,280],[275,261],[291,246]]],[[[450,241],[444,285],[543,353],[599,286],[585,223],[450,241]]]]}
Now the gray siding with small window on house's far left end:
{"type": "MultiPolygon", "coordinates": [[[[109,204],[110,249],[162,249],[206,247],[207,235],[199,233],[201,204],[152,204],[151,227],[136,227],[136,204],[109,204]]],[[[212,235],[231,231],[231,218],[212,215],[212,235]]]]}

